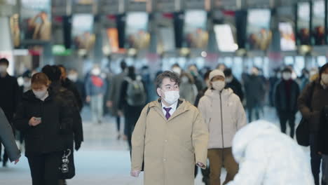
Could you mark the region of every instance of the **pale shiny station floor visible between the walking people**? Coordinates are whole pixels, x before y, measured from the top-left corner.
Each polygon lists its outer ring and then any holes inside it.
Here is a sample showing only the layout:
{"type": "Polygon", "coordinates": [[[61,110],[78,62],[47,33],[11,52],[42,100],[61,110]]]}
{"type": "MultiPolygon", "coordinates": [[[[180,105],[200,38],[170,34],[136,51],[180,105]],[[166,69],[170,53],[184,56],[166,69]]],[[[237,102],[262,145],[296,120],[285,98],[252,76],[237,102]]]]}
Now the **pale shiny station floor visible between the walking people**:
{"type": "MultiPolygon", "coordinates": [[[[69,185],[138,185],[142,184],[142,175],[139,178],[130,177],[130,154],[128,144],[117,140],[116,124],[113,118],[104,118],[104,123],[90,122],[88,108],[83,110],[83,129],[85,142],[81,150],[75,153],[76,177],[68,181],[69,185]]],[[[278,124],[273,109],[265,110],[264,119],[278,124]]],[[[123,125],[123,124],[122,124],[123,125]]],[[[222,174],[222,179],[225,171],[222,174]]],[[[25,156],[18,165],[9,164],[0,167],[1,185],[29,185],[31,178],[25,156]]],[[[201,175],[195,179],[195,184],[203,184],[201,175]]]]}

